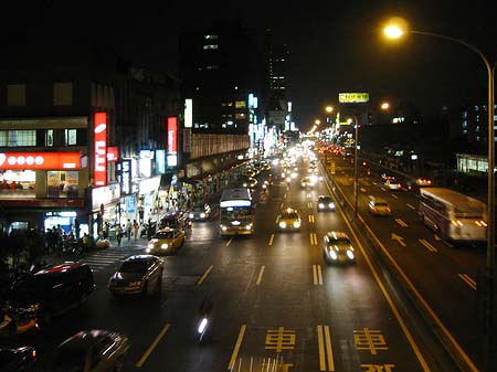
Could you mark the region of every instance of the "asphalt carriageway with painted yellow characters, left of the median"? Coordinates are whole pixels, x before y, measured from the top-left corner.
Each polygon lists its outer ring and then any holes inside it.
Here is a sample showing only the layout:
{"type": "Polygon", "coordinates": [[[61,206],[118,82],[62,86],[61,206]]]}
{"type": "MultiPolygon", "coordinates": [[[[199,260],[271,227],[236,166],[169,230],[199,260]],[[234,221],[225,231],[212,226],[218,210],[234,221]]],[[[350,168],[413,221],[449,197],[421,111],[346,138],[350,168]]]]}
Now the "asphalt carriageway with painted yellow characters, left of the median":
{"type": "MultiPolygon", "coordinates": [[[[53,349],[64,339],[81,329],[99,328],[129,337],[125,371],[456,371],[431,333],[433,325],[421,320],[359,232],[350,231],[348,215],[341,209],[316,211],[318,194],[330,193],[330,184],[303,190],[299,179],[307,163],[302,162],[298,171],[300,176],[289,185],[277,179],[267,193],[255,191],[253,236],[221,240],[215,215],[194,223],[178,255],[165,259],[159,296],[114,299],[106,288],[118,263],[142,252],[144,242],[94,253],[85,257],[94,263],[97,284],[88,302],[59,318],[51,329],[12,342],[34,344],[41,368],[50,364],[53,349]],[[276,215],[286,206],[299,211],[300,232],[277,231],[276,215]],[[330,230],[352,237],[355,265],[324,262],[322,236],[330,230]],[[193,319],[207,294],[214,300],[212,338],[199,344],[193,339],[193,319]]],[[[276,169],[272,172],[276,174],[276,169]]],[[[341,184],[336,183],[347,190],[347,174],[340,177],[341,184]]],[[[372,228],[387,240],[390,230],[379,220],[372,228]]],[[[389,241],[392,253],[402,252],[392,243],[396,241],[389,241]]],[[[427,251],[415,254],[413,262],[433,259],[427,251]]],[[[395,259],[405,267],[419,267],[402,254],[395,259]]],[[[438,277],[429,279],[434,267],[441,266],[431,265],[412,270],[416,283],[417,277],[426,277],[420,283],[431,290],[430,300],[438,297],[442,302],[441,294],[447,294],[451,300],[458,296],[458,305],[469,308],[476,296],[473,289],[462,280],[444,285],[436,283],[438,277]],[[431,287],[434,284],[437,289],[431,287]],[[457,285],[461,288],[454,288],[457,285]]]]}

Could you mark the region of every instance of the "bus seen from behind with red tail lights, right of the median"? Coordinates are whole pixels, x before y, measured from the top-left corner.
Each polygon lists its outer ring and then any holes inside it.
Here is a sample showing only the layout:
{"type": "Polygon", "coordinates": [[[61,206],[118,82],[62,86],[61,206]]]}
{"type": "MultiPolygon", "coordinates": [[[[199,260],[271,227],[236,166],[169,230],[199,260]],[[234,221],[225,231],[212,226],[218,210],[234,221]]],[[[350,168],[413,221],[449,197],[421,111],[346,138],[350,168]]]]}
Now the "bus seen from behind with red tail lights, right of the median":
{"type": "Polygon", "coordinates": [[[452,242],[478,242],[487,238],[485,203],[443,188],[420,189],[420,215],[426,226],[452,242]]]}

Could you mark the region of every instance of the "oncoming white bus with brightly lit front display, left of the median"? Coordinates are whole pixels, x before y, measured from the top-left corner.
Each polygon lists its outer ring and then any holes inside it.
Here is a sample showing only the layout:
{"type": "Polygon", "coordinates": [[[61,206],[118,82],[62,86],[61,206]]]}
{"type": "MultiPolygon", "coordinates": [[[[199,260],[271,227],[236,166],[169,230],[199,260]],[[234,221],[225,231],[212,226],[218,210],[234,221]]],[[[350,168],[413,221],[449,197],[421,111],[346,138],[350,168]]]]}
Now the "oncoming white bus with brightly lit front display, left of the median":
{"type": "Polygon", "coordinates": [[[251,191],[246,188],[224,190],[221,194],[219,214],[221,236],[252,234],[255,210],[252,204],[251,191]]]}

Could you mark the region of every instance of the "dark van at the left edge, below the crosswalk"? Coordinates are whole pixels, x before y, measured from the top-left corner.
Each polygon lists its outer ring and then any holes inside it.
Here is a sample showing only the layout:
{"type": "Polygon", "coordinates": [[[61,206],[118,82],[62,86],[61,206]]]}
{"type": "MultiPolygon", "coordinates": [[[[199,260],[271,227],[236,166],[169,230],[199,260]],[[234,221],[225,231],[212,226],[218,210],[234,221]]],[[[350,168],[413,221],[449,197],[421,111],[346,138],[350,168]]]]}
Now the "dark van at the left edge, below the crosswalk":
{"type": "Polygon", "coordinates": [[[84,304],[94,289],[89,266],[70,262],[24,275],[9,288],[7,299],[10,306],[21,308],[38,304],[38,319],[43,325],[84,304]]]}

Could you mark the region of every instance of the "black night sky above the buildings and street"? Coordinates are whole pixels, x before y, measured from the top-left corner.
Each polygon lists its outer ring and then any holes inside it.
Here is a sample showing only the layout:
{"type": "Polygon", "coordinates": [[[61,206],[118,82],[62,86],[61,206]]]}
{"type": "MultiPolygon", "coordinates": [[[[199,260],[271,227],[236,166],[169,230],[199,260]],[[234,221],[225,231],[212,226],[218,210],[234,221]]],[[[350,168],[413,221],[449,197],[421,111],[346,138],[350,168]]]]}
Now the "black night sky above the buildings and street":
{"type": "Polygon", "coordinates": [[[369,92],[371,104],[411,102],[422,114],[485,102],[486,71],[476,53],[435,38],[411,35],[387,43],[379,25],[403,15],[482,50],[497,61],[497,2],[489,0],[348,1],[38,1],[11,2],[2,13],[2,43],[94,40],[173,75],[178,35],[240,17],[274,30],[290,52],[288,99],[302,127],[336,104],[340,92],[369,92]],[[464,7],[463,7],[464,4],[464,7]],[[8,15],[8,17],[6,17],[8,15]]]}

